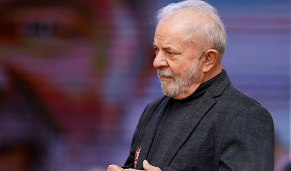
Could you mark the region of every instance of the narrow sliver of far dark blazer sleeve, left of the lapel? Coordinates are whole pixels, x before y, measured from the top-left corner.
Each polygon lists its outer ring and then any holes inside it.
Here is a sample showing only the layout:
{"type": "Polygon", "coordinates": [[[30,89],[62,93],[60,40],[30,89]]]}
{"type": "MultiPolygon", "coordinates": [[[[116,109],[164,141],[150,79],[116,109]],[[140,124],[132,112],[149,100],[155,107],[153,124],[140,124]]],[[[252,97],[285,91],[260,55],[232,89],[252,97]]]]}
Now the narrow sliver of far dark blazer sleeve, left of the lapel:
{"type": "Polygon", "coordinates": [[[136,138],[138,137],[140,128],[142,127],[143,121],[144,121],[146,113],[147,113],[148,106],[149,105],[147,105],[146,108],[144,109],[144,111],[143,111],[143,113],[142,113],[142,115],[141,115],[141,117],[139,119],[139,122],[138,122],[138,124],[137,124],[137,126],[135,128],[135,131],[134,131],[134,134],[133,134],[133,138],[132,138],[132,141],[131,141],[129,157],[127,158],[124,166],[122,167],[123,169],[130,169],[130,168],[133,169],[134,156],[135,156],[135,152],[136,152],[136,149],[137,149],[136,138]]]}

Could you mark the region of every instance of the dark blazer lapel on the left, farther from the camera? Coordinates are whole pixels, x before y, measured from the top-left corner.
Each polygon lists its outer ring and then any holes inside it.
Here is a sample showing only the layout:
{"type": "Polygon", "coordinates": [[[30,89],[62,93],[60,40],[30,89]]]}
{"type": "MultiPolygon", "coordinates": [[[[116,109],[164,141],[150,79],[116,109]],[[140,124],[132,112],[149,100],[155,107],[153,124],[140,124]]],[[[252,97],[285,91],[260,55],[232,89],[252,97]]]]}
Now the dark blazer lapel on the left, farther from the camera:
{"type": "Polygon", "coordinates": [[[141,145],[141,151],[136,163],[136,169],[138,170],[143,170],[143,161],[147,158],[152,142],[155,138],[158,126],[162,120],[162,116],[166,112],[169,101],[170,101],[169,98],[165,98],[165,100],[159,105],[157,110],[154,109],[154,111],[152,111],[155,114],[151,118],[151,121],[147,126],[146,135],[141,145]]]}

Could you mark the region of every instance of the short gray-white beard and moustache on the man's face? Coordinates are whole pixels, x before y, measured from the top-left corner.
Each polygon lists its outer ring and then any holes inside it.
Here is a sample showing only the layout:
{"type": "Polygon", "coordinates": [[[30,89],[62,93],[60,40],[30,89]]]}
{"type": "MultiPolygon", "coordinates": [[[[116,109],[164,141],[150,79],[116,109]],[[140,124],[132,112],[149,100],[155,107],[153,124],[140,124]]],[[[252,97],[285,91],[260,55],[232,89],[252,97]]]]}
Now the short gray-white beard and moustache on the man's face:
{"type": "Polygon", "coordinates": [[[199,80],[201,71],[199,70],[199,58],[196,58],[192,67],[181,77],[176,77],[172,71],[165,69],[157,69],[158,76],[162,85],[162,93],[169,97],[176,96],[186,91],[193,83],[199,80]],[[161,77],[173,78],[172,81],[162,81],[161,77]]]}

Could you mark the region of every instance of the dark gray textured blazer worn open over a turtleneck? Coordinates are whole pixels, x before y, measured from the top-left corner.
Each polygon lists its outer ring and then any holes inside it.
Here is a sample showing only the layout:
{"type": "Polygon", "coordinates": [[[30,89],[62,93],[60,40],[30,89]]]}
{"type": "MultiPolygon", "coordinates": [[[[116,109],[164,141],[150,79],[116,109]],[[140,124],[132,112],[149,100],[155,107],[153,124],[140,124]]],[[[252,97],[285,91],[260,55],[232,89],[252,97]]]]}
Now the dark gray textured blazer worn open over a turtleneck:
{"type": "MultiPolygon", "coordinates": [[[[150,149],[169,97],[147,105],[136,127],[124,168],[136,169],[150,149]]],[[[175,125],[173,125],[175,126],[175,125]]],[[[189,108],[178,134],[165,130],[171,145],[159,157],[162,171],[274,171],[274,125],[270,113],[236,88],[223,71],[199,102],[189,108]]],[[[149,163],[153,161],[149,160],[149,163]]]]}

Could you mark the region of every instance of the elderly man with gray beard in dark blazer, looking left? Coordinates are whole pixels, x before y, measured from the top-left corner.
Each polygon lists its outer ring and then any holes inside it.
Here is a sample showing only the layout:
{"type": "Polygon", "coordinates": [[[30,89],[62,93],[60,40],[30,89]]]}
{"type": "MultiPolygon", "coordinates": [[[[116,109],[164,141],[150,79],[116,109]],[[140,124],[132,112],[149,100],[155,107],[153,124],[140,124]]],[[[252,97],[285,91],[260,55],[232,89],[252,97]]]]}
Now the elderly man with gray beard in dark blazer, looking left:
{"type": "Polygon", "coordinates": [[[162,96],[144,110],[124,167],[108,171],[272,171],[270,113],[222,69],[226,32],[200,0],[157,13],[154,67],[162,96]]]}

